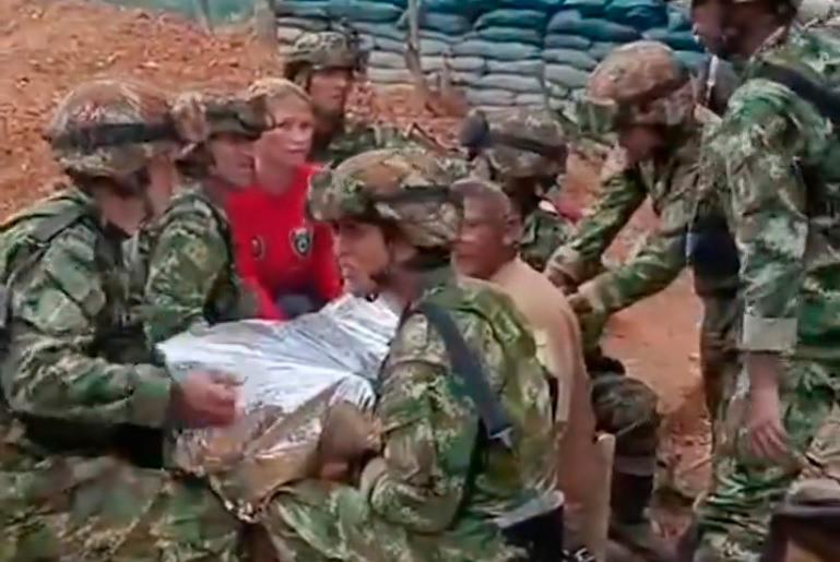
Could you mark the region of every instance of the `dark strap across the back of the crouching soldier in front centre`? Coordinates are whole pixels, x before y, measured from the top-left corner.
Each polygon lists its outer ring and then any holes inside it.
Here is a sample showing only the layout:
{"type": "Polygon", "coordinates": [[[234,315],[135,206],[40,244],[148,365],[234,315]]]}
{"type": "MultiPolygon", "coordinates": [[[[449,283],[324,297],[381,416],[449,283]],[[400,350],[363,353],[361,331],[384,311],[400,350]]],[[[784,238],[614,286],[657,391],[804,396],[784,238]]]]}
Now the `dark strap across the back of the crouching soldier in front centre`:
{"type": "Polygon", "coordinates": [[[461,378],[470,398],[475,403],[489,440],[511,449],[512,426],[490,388],[477,356],[468,347],[452,318],[431,302],[419,303],[415,311],[426,316],[443,338],[452,370],[456,376],[461,378]]]}

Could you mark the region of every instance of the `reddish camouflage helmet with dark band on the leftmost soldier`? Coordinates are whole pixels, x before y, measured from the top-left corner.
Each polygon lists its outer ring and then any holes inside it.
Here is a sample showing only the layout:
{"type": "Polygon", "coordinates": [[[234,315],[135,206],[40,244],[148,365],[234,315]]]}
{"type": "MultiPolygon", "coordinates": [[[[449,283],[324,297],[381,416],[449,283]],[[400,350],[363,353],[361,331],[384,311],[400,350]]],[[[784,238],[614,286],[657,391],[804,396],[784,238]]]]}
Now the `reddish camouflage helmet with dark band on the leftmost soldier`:
{"type": "Polygon", "coordinates": [[[92,81],[61,100],[45,137],[67,172],[127,177],[176,146],[169,109],[166,95],[150,85],[92,81]]]}

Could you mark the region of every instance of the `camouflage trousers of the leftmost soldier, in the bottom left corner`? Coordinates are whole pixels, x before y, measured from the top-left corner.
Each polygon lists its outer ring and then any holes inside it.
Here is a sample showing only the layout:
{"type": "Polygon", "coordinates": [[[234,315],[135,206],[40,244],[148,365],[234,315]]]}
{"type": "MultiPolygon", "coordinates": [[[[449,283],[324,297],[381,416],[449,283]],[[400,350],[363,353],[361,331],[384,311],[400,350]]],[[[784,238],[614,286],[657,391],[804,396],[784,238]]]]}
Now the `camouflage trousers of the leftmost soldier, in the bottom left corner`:
{"type": "Polygon", "coordinates": [[[199,480],[115,457],[0,467],[0,561],[240,560],[242,525],[199,480]]]}

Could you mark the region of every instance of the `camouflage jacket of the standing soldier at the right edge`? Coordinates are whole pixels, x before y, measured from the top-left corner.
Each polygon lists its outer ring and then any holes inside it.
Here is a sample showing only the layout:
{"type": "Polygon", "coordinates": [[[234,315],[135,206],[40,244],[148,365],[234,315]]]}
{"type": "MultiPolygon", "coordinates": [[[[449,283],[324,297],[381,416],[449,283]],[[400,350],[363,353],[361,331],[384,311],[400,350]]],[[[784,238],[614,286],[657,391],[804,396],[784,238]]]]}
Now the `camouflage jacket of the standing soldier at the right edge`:
{"type": "Polygon", "coordinates": [[[840,358],[837,124],[760,77],[772,64],[836,89],[838,61],[835,40],[780,29],[748,61],[743,85],[707,136],[703,184],[715,186],[738,247],[746,350],[840,358]]]}

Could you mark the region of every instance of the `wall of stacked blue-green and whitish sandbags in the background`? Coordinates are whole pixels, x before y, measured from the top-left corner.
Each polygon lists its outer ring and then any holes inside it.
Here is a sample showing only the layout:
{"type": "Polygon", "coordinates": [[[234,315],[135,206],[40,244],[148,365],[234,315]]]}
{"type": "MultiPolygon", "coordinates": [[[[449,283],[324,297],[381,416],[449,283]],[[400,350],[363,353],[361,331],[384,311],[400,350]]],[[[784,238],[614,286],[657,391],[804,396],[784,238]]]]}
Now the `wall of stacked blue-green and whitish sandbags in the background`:
{"type": "MultiPolygon", "coordinates": [[[[370,49],[375,84],[407,84],[406,0],[276,0],[277,37],[294,40],[345,20],[370,49]]],[[[687,63],[702,60],[684,9],[662,0],[422,0],[427,75],[443,69],[476,107],[542,105],[542,84],[567,98],[615,46],[661,40],[687,63]]]]}

